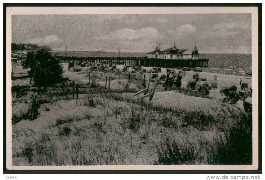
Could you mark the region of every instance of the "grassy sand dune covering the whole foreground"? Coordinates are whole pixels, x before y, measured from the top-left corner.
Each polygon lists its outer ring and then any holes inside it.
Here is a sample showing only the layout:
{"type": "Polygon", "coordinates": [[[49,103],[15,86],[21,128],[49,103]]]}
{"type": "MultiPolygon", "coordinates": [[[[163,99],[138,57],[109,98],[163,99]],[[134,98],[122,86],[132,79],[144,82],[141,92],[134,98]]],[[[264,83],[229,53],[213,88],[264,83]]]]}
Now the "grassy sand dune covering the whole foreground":
{"type": "Polygon", "coordinates": [[[111,90],[80,84],[79,100],[70,82],[39,93],[12,87],[12,111],[25,109],[12,116],[13,165],[252,164],[252,117],[227,107],[211,113],[137,100],[131,94],[143,89],[142,80],[131,81],[116,78],[121,88],[111,90]]]}

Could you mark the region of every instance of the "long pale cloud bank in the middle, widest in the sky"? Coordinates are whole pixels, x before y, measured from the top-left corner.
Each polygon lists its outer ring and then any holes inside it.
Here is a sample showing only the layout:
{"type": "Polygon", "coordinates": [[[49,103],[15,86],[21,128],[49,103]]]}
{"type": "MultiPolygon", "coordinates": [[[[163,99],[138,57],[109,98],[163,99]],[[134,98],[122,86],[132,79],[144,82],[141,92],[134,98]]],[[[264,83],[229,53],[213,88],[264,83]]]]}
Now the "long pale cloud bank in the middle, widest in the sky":
{"type": "Polygon", "coordinates": [[[160,33],[155,28],[141,28],[134,30],[131,28],[118,29],[108,35],[97,36],[99,40],[155,40],[159,38],[160,33]]]}

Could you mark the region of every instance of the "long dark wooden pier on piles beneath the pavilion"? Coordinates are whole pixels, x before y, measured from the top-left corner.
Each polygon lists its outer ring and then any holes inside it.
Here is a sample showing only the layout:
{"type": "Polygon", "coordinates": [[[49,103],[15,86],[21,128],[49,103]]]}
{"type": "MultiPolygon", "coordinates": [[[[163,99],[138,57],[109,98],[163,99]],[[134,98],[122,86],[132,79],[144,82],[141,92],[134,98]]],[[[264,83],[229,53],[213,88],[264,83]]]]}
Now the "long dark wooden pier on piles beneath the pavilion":
{"type": "Polygon", "coordinates": [[[209,59],[147,59],[145,57],[79,57],[56,56],[60,62],[83,62],[124,64],[127,66],[156,66],[156,67],[208,67],[209,59]]]}

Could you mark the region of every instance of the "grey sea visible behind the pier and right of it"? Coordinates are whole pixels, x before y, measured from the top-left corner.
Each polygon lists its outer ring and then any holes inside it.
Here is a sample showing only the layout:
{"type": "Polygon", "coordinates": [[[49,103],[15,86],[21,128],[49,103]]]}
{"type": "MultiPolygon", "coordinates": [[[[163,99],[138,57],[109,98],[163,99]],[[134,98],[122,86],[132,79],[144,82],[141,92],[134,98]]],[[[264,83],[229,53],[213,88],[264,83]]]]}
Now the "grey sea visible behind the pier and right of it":
{"type": "MultiPolygon", "coordinates": [[[[65,51],[51,51],[52,54],[65,56],[65,51]]],[[[120,52],[120,57],[146,57],[147,53],[120,52]]],[[[118,57],[118,52],[99,53],[95,51],[67,51],[67,56],[118,57]]],[[[209,59],[208,69],[224,71],[225,74],[243,74],[252,67],[251,54],[199,54],[200,59],[209,59]]]]}

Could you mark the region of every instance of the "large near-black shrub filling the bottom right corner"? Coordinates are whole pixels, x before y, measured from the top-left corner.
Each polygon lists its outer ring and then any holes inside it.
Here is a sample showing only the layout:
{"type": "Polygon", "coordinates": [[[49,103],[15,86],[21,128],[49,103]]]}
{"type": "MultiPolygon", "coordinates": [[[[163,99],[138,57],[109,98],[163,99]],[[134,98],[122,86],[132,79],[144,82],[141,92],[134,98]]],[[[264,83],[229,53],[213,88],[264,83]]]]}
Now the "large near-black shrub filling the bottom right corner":
{"type": "Polygon", "coordinates": [[[246,115],[237,117],[237,122],[224,138],[215,140],[217,147],[208,150],[209,164],[252,164],[252,119],[246,115]]]}

